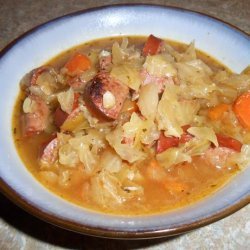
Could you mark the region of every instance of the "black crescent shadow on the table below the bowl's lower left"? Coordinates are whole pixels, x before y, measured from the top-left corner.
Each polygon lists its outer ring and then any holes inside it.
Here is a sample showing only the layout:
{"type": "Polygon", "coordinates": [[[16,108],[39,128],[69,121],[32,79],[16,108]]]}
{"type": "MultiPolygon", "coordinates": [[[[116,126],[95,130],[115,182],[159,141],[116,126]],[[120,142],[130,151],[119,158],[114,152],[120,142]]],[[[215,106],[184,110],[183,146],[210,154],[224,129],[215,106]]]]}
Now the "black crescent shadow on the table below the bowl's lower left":
{"type": "MultiPolygon", "coordinates": [[[[0,194],[0,218],[10,227],[35,240],[70,249],[143,249],[172,241],[180,236],[146,240],[117,240],[97,238],[68,231],[46,223],[17,207],[0,194]]],[[[0,235],[1,239],[1,235],[0,235]]],[[[43,244],[41,243],[41,244],[43,244]]]]}

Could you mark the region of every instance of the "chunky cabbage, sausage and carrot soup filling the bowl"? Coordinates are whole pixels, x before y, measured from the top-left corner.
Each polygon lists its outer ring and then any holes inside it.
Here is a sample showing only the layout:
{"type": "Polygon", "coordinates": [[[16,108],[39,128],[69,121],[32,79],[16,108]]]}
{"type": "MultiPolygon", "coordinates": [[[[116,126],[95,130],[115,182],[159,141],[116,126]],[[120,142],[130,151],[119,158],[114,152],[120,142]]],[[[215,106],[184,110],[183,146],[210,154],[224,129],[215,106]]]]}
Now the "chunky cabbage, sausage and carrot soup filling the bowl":
{"type": "Polygon", "coordinates": [[[20,86],[13,137],[24,165],[84,208],[166,212],[212,194],[248,164],[238,101],[249,94],[249,70],[233,74],[193,43],[90,41],[20,86]]]}

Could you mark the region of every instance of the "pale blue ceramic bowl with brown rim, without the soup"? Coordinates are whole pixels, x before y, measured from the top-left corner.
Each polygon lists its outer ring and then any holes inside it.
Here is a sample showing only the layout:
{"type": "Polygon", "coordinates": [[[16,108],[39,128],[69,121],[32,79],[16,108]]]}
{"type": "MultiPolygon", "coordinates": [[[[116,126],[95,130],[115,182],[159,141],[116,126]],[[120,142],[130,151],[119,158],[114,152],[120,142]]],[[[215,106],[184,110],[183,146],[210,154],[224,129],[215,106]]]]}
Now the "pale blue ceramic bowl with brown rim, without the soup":
{"type": "Polygon", "coordinates": [[[217,19],[178,8],[119,5],[80,11],[40,25],[7,46],[0,56],[0,186],[31,214],[63,228],[111,238],[153,238],[183,233],[221,219],[250,200],[250,168],[215,194],[173,212],[113,216],[89,211],[49,192],[20,160],[11,133],[13,106],[22,76],[58,53],[96,38],[154,35],[196,47],[233,71],[250,63],[247,34],[217,19]]]}

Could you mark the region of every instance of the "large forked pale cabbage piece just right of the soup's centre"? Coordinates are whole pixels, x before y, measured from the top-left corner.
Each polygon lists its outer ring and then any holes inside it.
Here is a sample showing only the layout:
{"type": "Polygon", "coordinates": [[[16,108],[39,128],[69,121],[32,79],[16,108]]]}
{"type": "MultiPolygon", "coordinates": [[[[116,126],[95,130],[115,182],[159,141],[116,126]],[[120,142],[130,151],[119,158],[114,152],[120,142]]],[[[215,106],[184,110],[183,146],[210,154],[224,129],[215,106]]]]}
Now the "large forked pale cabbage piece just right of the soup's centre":
{"type": "Polygon", "coordinates": [[[168,85],[158,104],[158,129],[165,130],[165,135],[180,137],[182,126],[190,124],[199,110],[195,100],[178,100],[178,86],[168,85]]]}

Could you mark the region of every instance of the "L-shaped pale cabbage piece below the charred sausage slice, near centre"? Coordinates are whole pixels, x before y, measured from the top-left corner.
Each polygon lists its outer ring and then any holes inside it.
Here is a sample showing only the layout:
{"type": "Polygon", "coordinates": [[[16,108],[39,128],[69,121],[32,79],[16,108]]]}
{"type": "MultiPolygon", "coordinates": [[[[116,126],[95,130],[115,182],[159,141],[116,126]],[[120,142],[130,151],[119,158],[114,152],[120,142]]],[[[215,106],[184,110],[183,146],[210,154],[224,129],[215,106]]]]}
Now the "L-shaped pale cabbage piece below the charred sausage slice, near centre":
{"type": "Polygon", "coordinates": [[[146,154],[135,148],[133,145],[123,144],[123,133],[121,128],[116,128],[114,131],[107,134],[106,139],[110,146],[115,149],[117,154],[130,163],[141,161],[146,158],[146,154]]]}

